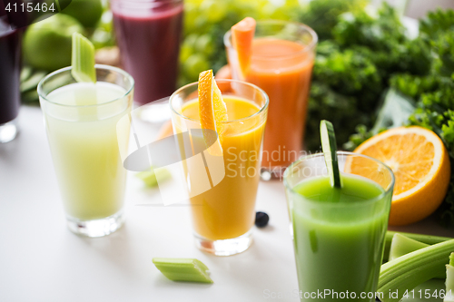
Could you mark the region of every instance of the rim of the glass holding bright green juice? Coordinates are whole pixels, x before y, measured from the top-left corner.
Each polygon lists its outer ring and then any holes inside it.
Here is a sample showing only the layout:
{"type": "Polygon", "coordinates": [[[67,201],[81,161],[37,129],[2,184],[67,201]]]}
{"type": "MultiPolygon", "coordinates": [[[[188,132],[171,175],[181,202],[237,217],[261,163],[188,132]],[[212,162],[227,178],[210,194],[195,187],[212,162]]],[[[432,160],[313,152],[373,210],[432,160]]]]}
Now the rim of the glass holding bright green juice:
{"type": "MultiPolygon", "coordinates": [[[[390,193],[391,189],[393,190],[394,189],[394,184],[396,182],[396,178],[394,176],[394,173],[392,172],[392,170],[390,169],[390,167],[388,167],[388,165],[386,165],[384,162],[382,161],[379,161],[377,159],[374,159],[370,156],[367,156],[367,155],[364,155],[364,154],[360,154],[360,153],[355,153],[355,152],[350,152],[350,151],[337,151],[336,152],[337,155],[353,155],[353,156],[358,156],[358,157],[362,157],[364,159],[367,159],[367,160],[370,160],[370,161],[375,161],[377,162],[378,164],[380,164],[381,166],[383,166],[386,170],[388,170],[388,172],[390,172],[390,175],[391,175],[391,181],[390,181],[390,186],[388,189],[384,190],[383,189],[383,192],[379,195],[379,196],[376,196],[370,200],[366,200],[366,201],[363,201],[363,202],[339,202],[339,203],[332,203],[332,202],[319,202],[319,201],[314,201],[314,200],[308,200],[306,198],[304,198],[304,196],[302,196],[300,193],[298,193],[296,190],[293,190],[294,187],[292,188],[289,184],[289,181],[287,180],[287,178],[289,177],[289,174],[291,173],[291,169],[299,164],[301,164],[301,162],[303,161],[309,161],[309,160],[312,160],[314,158],[319,158],[319,157],[323,157],[323,152],[317,152],[317,153],[314,153],[314,154],[311,154],[311,155],[306,155],[304,157],[302,157],[300,160],[298,161],[293,161],[291,163],[291,165],[284,171],[284,174],[283,174],[283,183],[284,183],[284,186],[285,186],[285,189],[290,191],[292,195],[296,195],[296,196],[299,196],[301,199],[304,199],[305,202],[307,203],[311,203],[311,204],[316,204],[317,206],[319,207],[330,207],[330,208],[356,208],[358,207],[359,205],[361,206],[365,206],[365,205],[369,205],[371,203],[375,203],[377,201],[380,201],[380,200],[383,200],[383,198],[390,193]]],[[[351,173],[347,173],[347,174],[351,174],[351,173]]],[[[351,175],[356,175],[356,174],[351,174],[351,175]]],[[[360,175],[358,175],[360,176],[360,175]]],[[[374,180],[371,180],[373,181],[374,183],[377,183],[376,181],[374,180]]],[[[381,188],[381,186],[380,186],[381,188]]]]}

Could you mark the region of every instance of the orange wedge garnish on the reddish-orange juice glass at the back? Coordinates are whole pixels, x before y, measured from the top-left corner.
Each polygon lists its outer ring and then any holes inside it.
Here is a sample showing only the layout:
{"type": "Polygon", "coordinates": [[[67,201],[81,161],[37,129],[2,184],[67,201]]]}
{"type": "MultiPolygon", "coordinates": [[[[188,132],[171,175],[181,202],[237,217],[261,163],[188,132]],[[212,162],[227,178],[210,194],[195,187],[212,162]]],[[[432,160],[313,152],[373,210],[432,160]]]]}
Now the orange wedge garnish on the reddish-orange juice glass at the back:
{"type": "Polygon", "coordinates": [[[232,45],[238,54],[238,63],[242,79],[245,78],[251,66],[252,40],[255,34],[255,20],[246,17],[232,26],[232,45]]]}

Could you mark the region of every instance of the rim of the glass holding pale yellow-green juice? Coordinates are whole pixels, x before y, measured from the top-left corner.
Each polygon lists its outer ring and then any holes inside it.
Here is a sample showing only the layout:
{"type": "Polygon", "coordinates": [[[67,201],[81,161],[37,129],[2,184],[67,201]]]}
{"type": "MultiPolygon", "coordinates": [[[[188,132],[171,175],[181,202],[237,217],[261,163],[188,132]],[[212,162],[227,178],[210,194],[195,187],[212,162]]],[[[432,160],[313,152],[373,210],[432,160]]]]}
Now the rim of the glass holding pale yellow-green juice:
{"type": "MultiPolygon", "coordinates": [[[[116,73],[122,74],[124,77],[128,78],[128,80],[131,82],[131,87],[129,89],[127,89],[126,92],[122,96],[117,97],[114,100],[111,100],[109,102],[96,103],[96,104],[93,104],[93,105],[82,105],[82,106],[80,106],[80,105],[68,105],[68,104],[63,104],[63,103],[60,103],[60,102],[52,102],[52,101],[48,100],[44,96],[44,91],[43,91],[44,83],[46,81],[48,81],[49,79],[51,79],[52,77],[54,77],[55,75],[71,71],[72,69],[73,69],[73,66],[67,66],[67,67],[58,69],[58,70],[54,71],[53,73],[49,73],[46,76],[44,76],[44,78],[38,83],[38,88],[37,88],[37,92],[38,92],[38,96],[39,96],[40,100],[43,99],[45,102],[49,102],[49,103],[52,103],[53,105],[62,106],[62,107],[66,107],[66,108],[99,107],[99,106],[107,105],[107,104],[122,100],[125,96],[130,94],[133,91],[133,89],[134,89],[135,83],[134,83],[133,76],[131,74],[126,73],[125,71],[123,71],[123,69],[118,68],[118,67],[114,67],[114,66],[110,66],[110,65],[104,65],[104,64],[94,64],[94,69],[107,70],[107,71],[110,71],[110,72],[116,72],[116,73]]],[[[78,83],[78,82],[75,82],[75,83],[78,83]]],[[[108,82],[105,82],[105,83],[108,83],[108,82]]],[[[64,85],[64,86],[67,86],[67,85],[64,85]]],[[[64,87],[64,86],[62,86],[62,87],[64,87]]],[[[58,87],[58,88],[61,88],[61,87],[58,87]]],[[[56,88],[56,89],[58,89],[58,88],[56,88]]],[[[56,89],[54,89],[53,91],[55,91],[56,89]]],[[[49,93],[47,93],[47,95],[48,94],[49,93]]]]}

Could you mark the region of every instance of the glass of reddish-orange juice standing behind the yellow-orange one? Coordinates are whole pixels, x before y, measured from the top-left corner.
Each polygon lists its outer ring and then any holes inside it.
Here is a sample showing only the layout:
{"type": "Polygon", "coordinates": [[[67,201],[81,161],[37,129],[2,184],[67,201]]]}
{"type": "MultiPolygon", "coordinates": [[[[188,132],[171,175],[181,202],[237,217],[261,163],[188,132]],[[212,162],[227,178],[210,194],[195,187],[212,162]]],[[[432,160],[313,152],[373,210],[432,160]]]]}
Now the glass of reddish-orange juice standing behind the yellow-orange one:
{"type": "Polygon", "coordinates": [[[270,97],[262,158],[265,180],[281,178],[285,168],[301,155],[317,39],[304,24],[258,21],[251,66],[242,74],[232,31],[224,35],[233,79],[253,83],[270,97]]]}

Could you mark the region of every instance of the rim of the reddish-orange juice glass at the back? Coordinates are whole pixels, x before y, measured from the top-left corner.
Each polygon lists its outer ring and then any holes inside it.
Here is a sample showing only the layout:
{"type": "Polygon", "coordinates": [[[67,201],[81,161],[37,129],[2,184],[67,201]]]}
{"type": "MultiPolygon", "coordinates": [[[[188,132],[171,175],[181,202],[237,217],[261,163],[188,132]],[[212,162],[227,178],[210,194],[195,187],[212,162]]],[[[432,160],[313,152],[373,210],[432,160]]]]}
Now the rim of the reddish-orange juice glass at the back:
{"type": "MultiPolygon", "coordinates": [[[[285,60],[285,59],[297,56],[299,54],[307,54],[307,53],[313,51],[313,49],[315,48],[315,46],[317,45],[318,40],[319,40],[319,36],[317,35],[317,33],[315,33],[315,31],[306,24],[292,22],[292,21],[272,20],[272,19],[257,21],[257,26],[259,26],[261,24],[294,24],[294,25],[299,26],[300,28],[305,29],[309,34],[311,34],[312,41],[310,44],[305,45],[306,47],[304,47],[304,49],[302,49],[300,52],[297,52],[294,54],[287,54],[285,56],[279,56],[279,57],[270,57],[270,56],[266,56],[266,55],[253,55],[252,54],[252,57],[254,57],[254,58],[266,59],[266,60],[285,60]]],[[[231,42],[231,37],[232,37],[232,30],[228,30],[227,33],[225,33],[223,36],[223,43],[224,43],[225,47],[227,47],[228,49],[236,51],[233,48],[233,45],[231,42]]]]}

